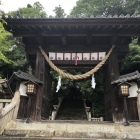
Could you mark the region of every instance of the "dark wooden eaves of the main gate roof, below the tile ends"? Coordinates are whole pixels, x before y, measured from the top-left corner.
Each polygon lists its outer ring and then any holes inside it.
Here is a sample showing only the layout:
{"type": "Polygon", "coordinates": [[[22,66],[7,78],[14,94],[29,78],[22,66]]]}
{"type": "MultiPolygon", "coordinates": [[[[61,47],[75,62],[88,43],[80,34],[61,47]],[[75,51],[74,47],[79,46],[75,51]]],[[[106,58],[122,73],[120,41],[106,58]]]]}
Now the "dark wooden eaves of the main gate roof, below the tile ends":
{"type": "Polygon", "coordinates": [[[73,19],[11,19],[5,18],[5,29],[14,36],[96,35],[139,36],[139,18],[73,18],[73,19]],[[23,30],[24,28],[24,30],[23,30]]]}

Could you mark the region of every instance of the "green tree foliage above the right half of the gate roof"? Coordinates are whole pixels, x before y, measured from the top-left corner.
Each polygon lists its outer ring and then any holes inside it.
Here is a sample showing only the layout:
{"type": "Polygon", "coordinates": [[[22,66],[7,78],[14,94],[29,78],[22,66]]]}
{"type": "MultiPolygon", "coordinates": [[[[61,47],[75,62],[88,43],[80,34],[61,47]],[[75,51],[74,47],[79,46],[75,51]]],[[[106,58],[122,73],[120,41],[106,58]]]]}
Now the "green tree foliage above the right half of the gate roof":
{"type": "Polygon", "coordinates": [[[79,0],[71,15],[121,15],[140,13],[139,0],[79,0]]]}

